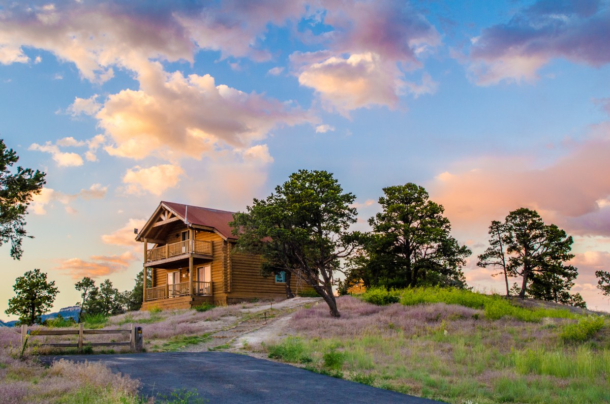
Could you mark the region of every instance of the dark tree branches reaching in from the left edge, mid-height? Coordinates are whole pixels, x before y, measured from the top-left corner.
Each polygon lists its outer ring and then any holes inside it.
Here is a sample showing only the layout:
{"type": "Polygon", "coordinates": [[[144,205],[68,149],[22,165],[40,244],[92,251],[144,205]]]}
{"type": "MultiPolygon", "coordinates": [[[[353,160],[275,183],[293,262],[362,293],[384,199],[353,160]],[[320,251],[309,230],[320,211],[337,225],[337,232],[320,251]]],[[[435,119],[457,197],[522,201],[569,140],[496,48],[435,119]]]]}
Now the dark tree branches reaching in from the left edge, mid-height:
{"type": "Polygon", "coordinates": [[[23,237],[32,238],[24,229],[27,206],[46,183],[46,174],[32,168],[17,167],[16,172],[11,172],[18,161],[15,151],[7,149],[0,139],[0,245],[10,242],[13,259],[20,259],[23,254],[23,237]]]}

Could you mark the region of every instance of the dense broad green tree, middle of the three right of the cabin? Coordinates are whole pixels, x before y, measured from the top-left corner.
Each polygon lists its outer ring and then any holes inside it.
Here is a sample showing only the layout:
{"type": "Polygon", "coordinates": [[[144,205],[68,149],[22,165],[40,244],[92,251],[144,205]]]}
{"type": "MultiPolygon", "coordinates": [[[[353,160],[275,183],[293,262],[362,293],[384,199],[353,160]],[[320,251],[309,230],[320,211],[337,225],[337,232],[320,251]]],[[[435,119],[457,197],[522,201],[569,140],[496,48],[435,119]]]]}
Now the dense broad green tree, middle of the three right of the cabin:
{"type": "Polygon", "coordinates": [[[359,237],[362,250],[351,259],[348,279],[367,287],[465,287],[462,267],[472,252],[450,236],[443,206],[412,182],[383,192],[382,211],[368,220],[371,233],[359,237]]]}

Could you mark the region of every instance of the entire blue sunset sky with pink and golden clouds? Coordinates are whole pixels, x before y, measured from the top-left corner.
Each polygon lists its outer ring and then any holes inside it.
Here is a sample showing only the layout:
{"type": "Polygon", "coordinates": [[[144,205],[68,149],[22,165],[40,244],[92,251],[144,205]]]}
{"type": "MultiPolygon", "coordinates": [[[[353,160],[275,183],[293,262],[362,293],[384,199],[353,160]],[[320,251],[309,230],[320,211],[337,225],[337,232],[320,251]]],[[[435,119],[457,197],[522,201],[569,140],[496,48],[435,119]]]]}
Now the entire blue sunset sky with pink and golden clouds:
{"type": "Polygon", "coordinates": [[[131,289],[159,202],[244,211],[301,168],[334,173],[359,220],[387,186],[445,207],[476,267],[492,220],[536,209],[574,237],[610,311],[610,4],[540,1],[0,0],[0,138],[46,172],[17,276],[131,289]]]}

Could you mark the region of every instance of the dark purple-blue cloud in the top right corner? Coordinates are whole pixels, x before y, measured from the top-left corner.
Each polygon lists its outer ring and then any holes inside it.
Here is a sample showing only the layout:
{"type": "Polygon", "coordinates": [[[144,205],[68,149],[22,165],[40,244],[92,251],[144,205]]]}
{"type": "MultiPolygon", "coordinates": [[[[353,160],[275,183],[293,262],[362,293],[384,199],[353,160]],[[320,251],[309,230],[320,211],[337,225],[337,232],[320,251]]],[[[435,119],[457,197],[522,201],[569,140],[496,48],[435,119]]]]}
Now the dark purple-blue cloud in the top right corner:
{"type": "Polygon", "coordinates": [[[550,60],[600,67],[610,62],[607,2],[540,0],[473,41],[468,70],[479,85],[533,81],[550,60]]]}

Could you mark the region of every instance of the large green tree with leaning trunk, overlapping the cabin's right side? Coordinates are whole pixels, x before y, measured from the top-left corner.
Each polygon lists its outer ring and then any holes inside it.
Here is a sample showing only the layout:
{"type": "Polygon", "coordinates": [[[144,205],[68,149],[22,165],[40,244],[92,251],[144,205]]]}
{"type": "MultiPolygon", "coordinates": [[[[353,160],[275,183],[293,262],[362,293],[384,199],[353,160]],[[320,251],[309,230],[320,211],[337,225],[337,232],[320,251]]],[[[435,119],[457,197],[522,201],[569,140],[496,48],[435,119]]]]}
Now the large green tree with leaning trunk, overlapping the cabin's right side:
{"type": "Polygon", "coordinates": [[[237,251],[260,254],[262,273],[283,270],[305,281],[339,317],[332,287],[340,259],[354,248],[348,229],[356,222],[355,198],[331,173],[299,170],[266,199],[254,199],[247,212],[233,215],[237,251]]]}

